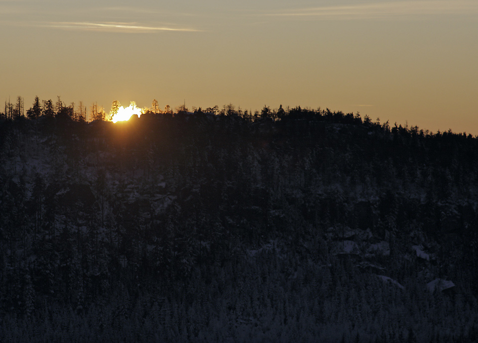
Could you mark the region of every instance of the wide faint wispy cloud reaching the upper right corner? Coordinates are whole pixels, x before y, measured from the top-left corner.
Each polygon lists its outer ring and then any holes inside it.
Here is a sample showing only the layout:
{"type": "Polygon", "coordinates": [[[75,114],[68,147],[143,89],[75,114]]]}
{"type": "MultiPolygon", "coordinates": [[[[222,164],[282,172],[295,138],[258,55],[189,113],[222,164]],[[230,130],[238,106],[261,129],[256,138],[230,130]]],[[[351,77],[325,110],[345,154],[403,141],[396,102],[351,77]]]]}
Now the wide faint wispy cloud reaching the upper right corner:
{"type": "Polygon", "coordinates": [[[268,16],[324,20],[390,19],[416,15],[477,14],[477,0],[424,0],[369,2],[309,7],[268,13],[268,16]]]}

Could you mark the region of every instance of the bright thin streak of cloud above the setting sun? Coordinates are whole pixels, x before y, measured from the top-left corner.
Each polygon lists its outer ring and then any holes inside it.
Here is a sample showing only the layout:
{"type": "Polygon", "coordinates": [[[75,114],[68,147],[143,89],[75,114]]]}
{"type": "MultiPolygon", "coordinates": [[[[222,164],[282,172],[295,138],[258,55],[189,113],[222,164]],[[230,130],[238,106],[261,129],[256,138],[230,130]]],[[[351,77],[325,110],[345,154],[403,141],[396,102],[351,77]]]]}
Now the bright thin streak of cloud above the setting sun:
{"type": "Polygon", "coordinates": [[[159,31],[200,32],[201,30],[186,27],[145,26],[136,23],[124,22],[50,22],[40,25],[44,27],[60,28],[77,31],[101,31],[119,33],[150,33],[159,31]]]}

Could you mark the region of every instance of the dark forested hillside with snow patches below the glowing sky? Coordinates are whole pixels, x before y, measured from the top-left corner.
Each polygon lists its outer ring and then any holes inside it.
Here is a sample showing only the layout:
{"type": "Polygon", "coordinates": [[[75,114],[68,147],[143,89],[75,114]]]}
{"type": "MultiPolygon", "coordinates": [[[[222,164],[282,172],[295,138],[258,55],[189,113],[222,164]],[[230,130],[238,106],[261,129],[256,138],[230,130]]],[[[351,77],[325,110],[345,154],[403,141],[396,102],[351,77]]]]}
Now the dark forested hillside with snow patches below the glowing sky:
{"type": "Polygon", "coordinates": [[[478,139],[296,108],[0,123],[0,342],[476,342],[478,139]]]}

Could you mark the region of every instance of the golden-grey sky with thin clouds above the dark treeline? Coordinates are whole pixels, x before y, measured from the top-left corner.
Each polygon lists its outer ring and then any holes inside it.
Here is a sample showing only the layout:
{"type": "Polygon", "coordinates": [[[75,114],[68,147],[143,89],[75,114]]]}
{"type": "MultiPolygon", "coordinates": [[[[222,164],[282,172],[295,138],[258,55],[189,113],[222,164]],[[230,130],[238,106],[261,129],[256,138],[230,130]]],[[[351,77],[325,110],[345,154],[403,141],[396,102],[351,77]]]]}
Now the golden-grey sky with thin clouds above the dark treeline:
{"type": "Polygon", "coordinates": [[[25,109],[320,107],[478,135],[477,0],[0,0],[0,42],[0,100],[25,109]]]}

